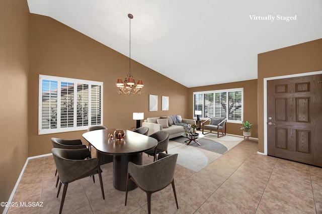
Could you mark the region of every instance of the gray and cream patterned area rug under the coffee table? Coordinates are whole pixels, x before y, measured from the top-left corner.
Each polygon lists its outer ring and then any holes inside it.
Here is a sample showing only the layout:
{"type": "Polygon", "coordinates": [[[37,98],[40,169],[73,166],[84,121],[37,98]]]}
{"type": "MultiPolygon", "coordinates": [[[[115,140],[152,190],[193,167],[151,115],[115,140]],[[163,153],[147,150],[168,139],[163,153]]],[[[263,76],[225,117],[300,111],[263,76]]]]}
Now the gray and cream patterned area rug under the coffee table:
{"type": "Polygon", "coordinates": [[[219,139],[216,135],[207,135],[205,138],[197,139],[201,146],[193,141],[187,145],[186,140],[185,137],[170,139],[168,153],[178,153],[177,164],[198,172],[244,139],[224,136],[217,142],[219,139]]]}

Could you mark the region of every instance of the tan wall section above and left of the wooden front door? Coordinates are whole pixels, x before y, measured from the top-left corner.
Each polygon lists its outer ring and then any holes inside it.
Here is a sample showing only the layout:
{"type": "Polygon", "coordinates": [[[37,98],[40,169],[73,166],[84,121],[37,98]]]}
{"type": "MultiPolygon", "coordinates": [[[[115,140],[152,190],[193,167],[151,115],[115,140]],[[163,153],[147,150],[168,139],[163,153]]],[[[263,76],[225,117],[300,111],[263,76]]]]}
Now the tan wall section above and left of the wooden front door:
{"type": "Polygon", "coordinates": [[[258,137],[264,152],[264,78],[322,70],[322,39],[258,55],[258,137]]]}

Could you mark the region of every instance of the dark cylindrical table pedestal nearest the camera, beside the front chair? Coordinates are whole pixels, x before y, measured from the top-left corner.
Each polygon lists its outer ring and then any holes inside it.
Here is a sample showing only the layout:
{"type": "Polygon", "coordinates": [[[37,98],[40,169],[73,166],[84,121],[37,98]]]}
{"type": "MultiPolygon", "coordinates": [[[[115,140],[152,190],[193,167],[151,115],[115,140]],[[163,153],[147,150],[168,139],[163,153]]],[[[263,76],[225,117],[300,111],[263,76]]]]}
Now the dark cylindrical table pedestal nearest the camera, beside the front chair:
{"type": "MultiPolygon", "coordinates": [[[[126,191],[127,165],[133,162],[142,165],[142,153],[133,155],[114,155],[113,157],[113,186],[120,191],[126,191]]],[[[137,188],[137,185],[130,179],[128,190],[137,188]]]]}

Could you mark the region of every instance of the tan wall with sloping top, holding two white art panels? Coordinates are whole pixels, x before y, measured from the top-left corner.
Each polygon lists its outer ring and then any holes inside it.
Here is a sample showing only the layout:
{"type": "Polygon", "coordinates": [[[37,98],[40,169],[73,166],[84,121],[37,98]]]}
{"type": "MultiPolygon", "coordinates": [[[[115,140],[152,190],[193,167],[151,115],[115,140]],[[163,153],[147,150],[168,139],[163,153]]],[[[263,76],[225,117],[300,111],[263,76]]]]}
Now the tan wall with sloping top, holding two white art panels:
{"type": "Polygon", "coordinates": [[[39,74],[103,81],[103,123],[108,128],[135,127],[133,112],[144,112],[144,118],[188,115],[187,87],[133,62],[131,72],[135,80],[143,80],[143,94],[118,95],[116,80],[128,74],[128,57],[48,17],[30,14],[30,26],[29,156],[50,153],[51,137],[83,140],[85,132],[38,135],[39,74]],[[158,95],[157,112],[149,112],[149,94],[158,95]],[[169,111],[161,111],[162,96],[170,97],[169,111]]]}

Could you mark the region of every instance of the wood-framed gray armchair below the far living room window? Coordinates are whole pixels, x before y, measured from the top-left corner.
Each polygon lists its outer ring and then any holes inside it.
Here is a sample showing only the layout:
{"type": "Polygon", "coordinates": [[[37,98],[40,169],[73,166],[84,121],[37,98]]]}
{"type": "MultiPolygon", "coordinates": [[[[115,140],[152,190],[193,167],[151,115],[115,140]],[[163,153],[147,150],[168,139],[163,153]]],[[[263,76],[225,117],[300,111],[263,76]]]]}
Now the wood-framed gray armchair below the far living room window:
{"type": "Polygon", "coordinates": [[[212,133],[212,131],[216,131],[217,138],[225,136],[226,123],[227,123],[227,119],[225,118],[218,118],[218,117],[208,118],[206,121],[202,122],[202,134],[205,135],[205,134],[212,133]],[[205,125],[205,123],[207,123],[208,121],[209,121],[209,124],[205,125]],[[204,133],[205,130],[207,130],[208,133],[204,133]],[[224,130],[224,132],[222,130],[224,130]],[[219,131],[221,132],[220,137],[219,137],[219,131]]]}

